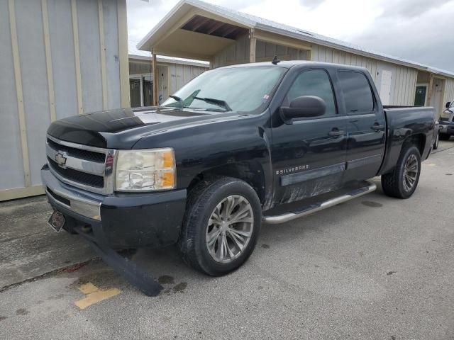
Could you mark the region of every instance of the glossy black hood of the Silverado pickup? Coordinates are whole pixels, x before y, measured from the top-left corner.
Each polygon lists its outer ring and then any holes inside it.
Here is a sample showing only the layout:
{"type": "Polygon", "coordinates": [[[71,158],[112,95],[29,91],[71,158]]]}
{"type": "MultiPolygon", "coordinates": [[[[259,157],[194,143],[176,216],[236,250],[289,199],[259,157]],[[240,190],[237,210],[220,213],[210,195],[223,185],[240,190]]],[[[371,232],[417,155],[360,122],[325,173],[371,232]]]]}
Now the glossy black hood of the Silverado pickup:
{"type": "Polygon", "coordinates": [[[48,134],[59,140],[94,147],[131,149],[146,135],[213,120],[230,120],[233,116],[238,114],[162,107],[123,108],[56,120],[48,134]]]}

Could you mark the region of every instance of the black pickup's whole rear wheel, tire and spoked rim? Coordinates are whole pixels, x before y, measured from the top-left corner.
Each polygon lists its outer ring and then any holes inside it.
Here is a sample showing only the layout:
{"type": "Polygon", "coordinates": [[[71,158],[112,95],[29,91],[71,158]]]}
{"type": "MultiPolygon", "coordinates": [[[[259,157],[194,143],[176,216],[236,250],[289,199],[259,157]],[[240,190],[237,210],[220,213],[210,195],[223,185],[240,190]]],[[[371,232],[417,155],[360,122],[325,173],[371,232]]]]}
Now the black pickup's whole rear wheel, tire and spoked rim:
{"type": "Polygon", "coordinates": [[[387,196],[395,198],[409,198],[413,195],[421,174],[421,155],[419,149],[409,145],[402,149],[397,165],[389,174],[382,175],[382,188],[387,196]],[[416,168],[413,168],[413,165],[416,168]],[[411,169],[415,171],[409,171],[411,169]],[[407,176],[406,176],[407,175],[407,176]],[[413,181],[409,179],[413,178],[413,181]]]}

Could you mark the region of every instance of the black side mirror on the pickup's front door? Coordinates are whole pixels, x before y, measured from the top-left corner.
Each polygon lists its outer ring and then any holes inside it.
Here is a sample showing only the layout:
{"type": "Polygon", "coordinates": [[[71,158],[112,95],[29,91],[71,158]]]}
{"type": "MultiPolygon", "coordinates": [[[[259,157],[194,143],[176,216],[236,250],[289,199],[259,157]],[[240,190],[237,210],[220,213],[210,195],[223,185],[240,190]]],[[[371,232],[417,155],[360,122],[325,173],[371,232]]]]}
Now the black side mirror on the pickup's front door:
{"type": "Polygon", "coordinates": [[[292,124],[294,118],[318,117],[325,114],[326,104],[322,98],[316,96],[301,96],[294,98],[290,106],[281,106],[282,120],[292,124]]]}

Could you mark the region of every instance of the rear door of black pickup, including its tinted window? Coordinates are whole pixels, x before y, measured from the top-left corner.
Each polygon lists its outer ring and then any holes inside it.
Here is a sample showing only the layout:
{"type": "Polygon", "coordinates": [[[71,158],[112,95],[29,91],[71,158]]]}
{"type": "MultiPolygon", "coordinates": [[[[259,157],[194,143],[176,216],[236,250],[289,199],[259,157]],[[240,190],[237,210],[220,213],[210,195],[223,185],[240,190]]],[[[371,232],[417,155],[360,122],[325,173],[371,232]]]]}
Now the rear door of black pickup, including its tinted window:
{"type": "Polygon", "coordinates": [[[370,179],[382,164],[386,128],[384,113],[364,73],[339,70],[337,75],[348,117],[344,181],[370,179]]]}

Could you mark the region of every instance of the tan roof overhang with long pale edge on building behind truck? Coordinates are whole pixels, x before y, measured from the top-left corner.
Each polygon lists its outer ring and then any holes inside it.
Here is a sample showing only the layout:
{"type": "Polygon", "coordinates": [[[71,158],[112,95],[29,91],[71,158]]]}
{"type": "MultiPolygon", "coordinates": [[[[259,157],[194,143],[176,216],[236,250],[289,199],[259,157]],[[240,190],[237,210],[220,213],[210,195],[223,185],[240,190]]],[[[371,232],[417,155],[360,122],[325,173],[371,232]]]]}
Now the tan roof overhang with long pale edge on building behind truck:
{"type": "MultiPolygon", "coordinates": [[[[314,43],[350,52],[355,55],[362,55],[363,57],[371,57],[384,62],[391,62],[393,64],[431,72],[443,77],[452,78],[454,76],[452,72],[365,50],[347,42],[323,37],[315,33],[307,33],[296,28],[290,28],[289,26],[275,25],[272,22],[267,24],[265,20],[259,21],[259,18],[253,18],[244,13],[236,13],[234,15],[232,12],[226,8],[206,4],[203,1],[182,0],[157,23],[153,30],[150,30],[145,35],[145,38],[140,40],[137,45],[138,50],[154,50],[159,55],[211,61],[211,58],[217,52],[233,44],[235,40],[183,29],[184,25],[191,21],[194,16],[203,16],[204,18],[227,23],[238,28],[244,28],[245,30],[253,28],[256,32],[261,31],[275,35],[275,37],[279,37],[279,42],[284,42],[285,39],[289,40],[289,43],[283,43],[282,45],[292,44],[298,48],[307,47],[310,49],[311,43],[314,43]]],[[[275,40],[275,38],[272,39],[275,40]]]]}

